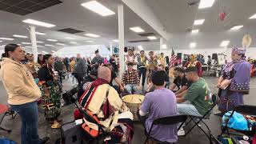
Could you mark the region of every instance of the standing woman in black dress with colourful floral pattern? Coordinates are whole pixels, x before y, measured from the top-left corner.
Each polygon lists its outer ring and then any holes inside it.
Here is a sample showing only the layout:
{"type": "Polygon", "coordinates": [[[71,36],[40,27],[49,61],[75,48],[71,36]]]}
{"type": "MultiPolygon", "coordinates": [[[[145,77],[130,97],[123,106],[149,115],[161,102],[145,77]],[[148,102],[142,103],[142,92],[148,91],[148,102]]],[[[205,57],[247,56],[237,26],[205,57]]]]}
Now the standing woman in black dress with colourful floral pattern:
{"type": "Polygon", "coordinates": [[[57,79],[54,75],[53,64],[54,57],[51,54],[43,56],[45,64],[38,71],[39,86],[42,91],[42,104],[45,110],[47,121],[53,122],[52,129],[58,129],[61,125],[58,123],[58,116],[61,114],[61,94],[59,91],[57,79]]]}

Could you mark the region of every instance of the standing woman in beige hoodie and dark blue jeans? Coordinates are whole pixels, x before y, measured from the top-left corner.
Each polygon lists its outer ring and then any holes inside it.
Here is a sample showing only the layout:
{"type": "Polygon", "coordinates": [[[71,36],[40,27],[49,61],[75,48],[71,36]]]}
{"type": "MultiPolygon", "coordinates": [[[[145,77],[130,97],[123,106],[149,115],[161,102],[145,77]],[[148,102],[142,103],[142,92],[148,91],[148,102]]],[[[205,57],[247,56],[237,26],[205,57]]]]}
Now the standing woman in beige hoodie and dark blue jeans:
{"type": "Polygon", "coordinates": [[[41,92],[34,78],[21,61],[25,53],[21,46],[8,44],[5,47],[0,75],[8,93],[8,103],[22,118],[22,144],[42,144],[49,138],[38,137],[38,104],[41,92]]]}

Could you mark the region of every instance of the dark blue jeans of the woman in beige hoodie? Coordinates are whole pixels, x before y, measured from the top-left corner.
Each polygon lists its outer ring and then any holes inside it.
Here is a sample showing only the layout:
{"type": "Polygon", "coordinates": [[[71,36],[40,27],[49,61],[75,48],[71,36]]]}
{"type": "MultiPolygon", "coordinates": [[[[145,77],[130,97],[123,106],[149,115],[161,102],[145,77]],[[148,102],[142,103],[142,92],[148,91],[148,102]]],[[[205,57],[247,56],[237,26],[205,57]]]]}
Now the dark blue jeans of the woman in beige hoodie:
{"type": "Polygon", "coordinates": [[[22,118],[22,144],[38,144],[38,103],[29,102],[22,105],[10,105],[22,118]]]}

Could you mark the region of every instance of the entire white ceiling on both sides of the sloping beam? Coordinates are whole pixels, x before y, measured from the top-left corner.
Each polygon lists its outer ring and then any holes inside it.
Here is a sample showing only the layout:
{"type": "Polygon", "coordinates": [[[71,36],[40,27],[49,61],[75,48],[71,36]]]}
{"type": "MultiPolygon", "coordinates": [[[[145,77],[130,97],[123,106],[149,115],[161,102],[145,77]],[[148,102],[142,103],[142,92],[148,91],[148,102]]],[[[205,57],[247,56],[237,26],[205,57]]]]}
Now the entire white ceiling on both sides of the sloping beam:
{"type": "MultiPolygon", "coordinates": [[[[45,44],[53,44],[55,47],[38,47],[40,50],[50,52],[50,50],[59,50],[63,46],[56,46],[56,42],[47,42],[47,38],[57,39],[58,42],[64,42],[66,46],[82,46],[90,44],[105,44],[106,46],[113,39],[118,39],[118,3],[121,0],[98,0],[104,6],[113,10],[116,14],[102,17],[94,14],[90,10],[81,6],[81,3],[89,0],[62,0],[62,4],[51,6],[45,10],[39,10],[33,14],[20,16],[0,11],[0,37],[12,37],[13,34],[21,34],[29,36],[27,24],[22,23],[26,18],[36,19],[42,22],[49,22],[56,27],[43,28],[38,27],[37,31],[45,32],[46,35],[37,35],[37,40],[45,42],[45,44]],[[74,28],[83,30],[81,34],[66,34],[57,30],[63,28],[74,28]],[[101,38],[87,38],[83,34],[93,33],[99,34],[101,38]],[[75,40],[67,40],[66,37],[75,38],[75,40]],[[86,42],[86,40],[94,40],[94,43],[86,42]],[[70,42],[78,42],[78,44],[70,44],[70,42]]],[[[215,0],[214,6],[203,10],[198,10],[198,6],[187,6],[187,2],[196,0],[138,0],[145,3],[152,10],[153,14],[158,18],[164,27],[164,30],[170,34],[168,41],[168,49],[189,49],[190,42],[197,42],[198,48],[217,48],[223,40],[230,40],[230,46],[241,46],[241,39],[244,34],[250,34],[253,38],[252,45],[256,47],[256,19],[248,19],[252,14],[256,13],[255,0],[215,0]],[[218,14],[225,10],[230,17],[221,22],[218,20],[218,14]],[[205,18],[205,22],[201,26],[193,26],[194,19],[205,18]],[[243,25],[241,30],[230,31],[234,25],[243,25]],[[186,30],[199,29],[198,34],[190,34],[186,30]]],[[[136,5],[136,3],[135,3],[136,5]]],[[[133,31],[129,30],[131,26],[141,26],[146,32],[159,34],[154,27],[152,28],[144,22],[133,10],[124,5],[124,23],[125,23],[125,41],[126,46],[142,45],[145,50],[158,50],[159,39],[155,42],[139,42],[129,43],[130,40],[145,40],[133,31]]],[[[16,43],[30,42],[29,38],[15,38],[16,43]]],[[[6,44],[6,41],[0,43],[6,44]]],[[[41,44],[38,44],[41,45],[41,44]]],[[[118,43],[114,43],[118,46],[118,43]]]]}

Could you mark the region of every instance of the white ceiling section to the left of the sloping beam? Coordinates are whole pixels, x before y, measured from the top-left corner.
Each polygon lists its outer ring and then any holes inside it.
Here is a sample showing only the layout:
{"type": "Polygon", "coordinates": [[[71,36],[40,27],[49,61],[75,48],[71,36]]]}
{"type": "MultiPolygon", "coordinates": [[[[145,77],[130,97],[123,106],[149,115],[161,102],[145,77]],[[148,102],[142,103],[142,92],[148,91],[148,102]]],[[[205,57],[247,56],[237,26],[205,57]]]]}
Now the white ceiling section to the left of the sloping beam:
{"type": "MultiPolygon", "coordinates": [[[[37,35],[37,41],[45,42],[38,45],[51,44],[52,46],[38,47],[39,52],[42,50],[50,52],[50,50],[59,50],[64,46],[58,46],[56,42],[48,42],[47,38],[57,39],[58,42],[63,42],[66,46],[83,46],[91,44],[105,44],[110,45],[113,39],[118,39],[118,3],[116,0],[99,0],[104,6],[110,8],[115,12],[114,15],[102,17],[94,12],[85,9],[81,3],[89,0],[62,0],[61,4],[48,7],[38,12],[20,16],[18,14],[11,14],[0,10],[0,37],[12,37],[13,34],[20,34],[30,36],[27,28],[28,24],[23,23],[22,20],[26,18],[35,19],[42,22],[49,22],[56,25],[53,28],[44,28],[38,26],[36,31],[44,32],[46,35],[37,35]],[[83,30],[84,33],[67,34],[58,32],[59,29],[74,28],[83,30]],[[88,38],[84,34],[93,33],[101,35],[100,38],[88,38]],[[66,37],[75,38],[75,40],[66,39],[66,37]],[[93,40],[95,42],[86,42],[86,40],[93,40]],[[70,42],[78,42],[78,44],[70,44],[70,42]]],[[[153,32],[159,37],[158,33],[152,29],[142,18],[134,14],[127,6],[124,6],[124,23],[125,23],[125,41],[126,46],[138,46],[139,43],[129,43],[128,41],[146,40],[146,37],[141,37],[129,29],[132,26],[141,26],[143,30],[153,32]]],[[[159,40],[156,40],[159,41],[159,40]]],[[[0,43],[4,45],[8,42],[21,43],[30,42],[30,38],[15,38],[14,41],[3,41],[0,43]]],[[[26,46],[26,45],[22,45],[26,46]]],[[[118,43],[113,42],[113,46],[118,46],[118,43]]],[[[26,49],[30,51],[30,49],[26,49]]]]}

